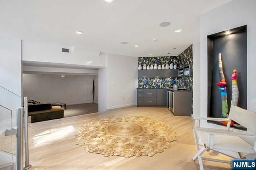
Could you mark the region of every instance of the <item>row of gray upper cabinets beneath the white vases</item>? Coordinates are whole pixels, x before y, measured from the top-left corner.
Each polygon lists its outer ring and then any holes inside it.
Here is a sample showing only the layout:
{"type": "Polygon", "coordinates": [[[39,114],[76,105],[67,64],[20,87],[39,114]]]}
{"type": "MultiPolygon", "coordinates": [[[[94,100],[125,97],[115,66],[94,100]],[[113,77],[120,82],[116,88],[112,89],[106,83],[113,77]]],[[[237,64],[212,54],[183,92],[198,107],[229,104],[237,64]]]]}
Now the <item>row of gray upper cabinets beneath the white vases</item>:
{"type": "Polygon", "coordinates": [[[178,77],[178,69],[138,70],[138,78],[167,78],[178,77]]]}

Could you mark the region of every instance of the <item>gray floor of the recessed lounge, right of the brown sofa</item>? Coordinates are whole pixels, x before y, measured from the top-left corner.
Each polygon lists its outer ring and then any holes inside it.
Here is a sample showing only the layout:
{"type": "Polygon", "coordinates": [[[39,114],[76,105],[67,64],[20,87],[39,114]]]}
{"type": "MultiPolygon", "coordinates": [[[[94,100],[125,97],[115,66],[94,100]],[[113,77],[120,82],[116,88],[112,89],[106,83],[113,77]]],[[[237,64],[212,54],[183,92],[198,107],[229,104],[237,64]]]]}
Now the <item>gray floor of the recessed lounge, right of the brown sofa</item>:
{"type": "Polygon", "coordinates": [[[84,115],[95,112],[98,112],[98,104],[96,103],[72,104],[66,106],[64,117],[84,115]]]}

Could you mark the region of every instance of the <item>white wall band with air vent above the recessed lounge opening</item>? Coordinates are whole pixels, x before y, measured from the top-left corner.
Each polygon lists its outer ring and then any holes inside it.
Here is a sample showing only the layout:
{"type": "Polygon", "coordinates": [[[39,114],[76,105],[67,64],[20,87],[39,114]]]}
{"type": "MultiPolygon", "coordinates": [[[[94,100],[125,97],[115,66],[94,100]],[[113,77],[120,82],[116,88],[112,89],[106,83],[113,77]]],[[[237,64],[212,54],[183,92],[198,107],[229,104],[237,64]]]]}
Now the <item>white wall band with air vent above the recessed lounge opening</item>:
{"type": "Polygon", "coordinates": [[[88,51],[85,47],[22,40],[22,61],[104,67],[106,57],[99,54],[100,51],[88,51]],[[62,48],[69,48],[70,53],[63,53],[62,48]]]}

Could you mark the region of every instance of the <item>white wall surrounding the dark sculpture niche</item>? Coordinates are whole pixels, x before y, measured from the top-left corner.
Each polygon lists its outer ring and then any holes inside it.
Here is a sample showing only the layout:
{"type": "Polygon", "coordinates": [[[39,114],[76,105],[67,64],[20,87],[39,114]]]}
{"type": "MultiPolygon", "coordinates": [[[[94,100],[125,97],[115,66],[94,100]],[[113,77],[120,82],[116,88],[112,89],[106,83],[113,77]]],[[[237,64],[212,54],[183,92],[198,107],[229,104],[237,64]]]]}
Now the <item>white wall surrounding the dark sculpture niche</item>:
{"type": "Polygon", "coordinates": [[[247,25],[247,109],[256,111],[255,9],[255,0],[234,0],[200,16],[200,112],[203,117],[207,116],[207,35],[242,25],[247,25]]]}

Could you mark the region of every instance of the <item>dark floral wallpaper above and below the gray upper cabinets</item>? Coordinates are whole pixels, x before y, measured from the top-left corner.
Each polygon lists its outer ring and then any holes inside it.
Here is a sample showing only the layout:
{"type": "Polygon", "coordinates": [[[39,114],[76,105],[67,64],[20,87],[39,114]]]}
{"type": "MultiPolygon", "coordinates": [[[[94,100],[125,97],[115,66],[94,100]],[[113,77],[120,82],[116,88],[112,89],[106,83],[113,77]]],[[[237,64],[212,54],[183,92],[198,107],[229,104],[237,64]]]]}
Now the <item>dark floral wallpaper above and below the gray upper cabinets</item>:
{"type": "MultiPolygon", "coordinates": [[[[177,68],[193,64],[192,45],[185,49],[178,56],[166,56],[166,57],[139,57],[138,64],[177,64],[177,68]]],[[[186,90],[193,90],[193,76],[184,76],[178,78],[139,78],[138,88],[168,88],[170,81],[174,84],[178,84],[178,88],[186,88],[186,90]]]]}

